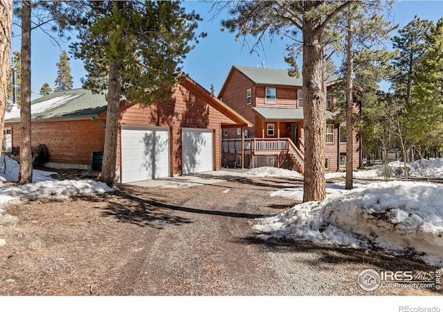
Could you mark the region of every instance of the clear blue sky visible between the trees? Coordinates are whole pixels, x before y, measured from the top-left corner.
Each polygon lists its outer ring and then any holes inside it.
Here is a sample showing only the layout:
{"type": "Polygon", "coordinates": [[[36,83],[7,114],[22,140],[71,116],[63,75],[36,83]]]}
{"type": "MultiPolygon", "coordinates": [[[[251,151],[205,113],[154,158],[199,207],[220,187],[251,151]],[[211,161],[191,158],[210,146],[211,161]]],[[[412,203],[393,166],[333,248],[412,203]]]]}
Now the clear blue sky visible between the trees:
{"type": "MultiPolygon", "coordinates": [[[[207,1],[183,1],[182,5],[188,10],[195,10],[204,19],[199,23],[198,31],[204,31],[208,33],[208,36],[202,38],[195,49],[187,55],[183,71],[206,89],[209,90],[210,85],[213,84],[215,93],[218,94],[233,65],[261,67],[264,62],[267,68],[288,68],[288,64],[284,62],[286,41],[278,40],[271,43],[268,40],[264,44],[264,51],[251,54],[247,46],[242,46],[241,42],[235,41],[234,34],[220,31],[220,20],[226,17],[226,12],[213,20],[214,12],[210,12],[211,3],[207,1]]],[[[415,15],[436,22],[443,17],[443,1],[396,1],[394,10],[388,18],[394,24],[400,24],[401,28],[415,15]]],[[[44,83],[49,83],[51,87],[54,87],[54,80],[57,77],[55,64],[59,61],[59,55],[63,49],[69,51],[69,44],[75,40],[75,37],[71,42],[62,43],[61,47],[53,44],[48,35],[41,31],[33,31],[31,38],[31,87],[34,92],[32,98],[35,99],[39,97],[39,90],[44,83]]],[[[12,51],[19,49],[19,29],[15,28],[12,51]]],[[[82,87],[80,78],[85,75],[83,64],[73,57],[70,62],[73,87],[82,87]]]]}

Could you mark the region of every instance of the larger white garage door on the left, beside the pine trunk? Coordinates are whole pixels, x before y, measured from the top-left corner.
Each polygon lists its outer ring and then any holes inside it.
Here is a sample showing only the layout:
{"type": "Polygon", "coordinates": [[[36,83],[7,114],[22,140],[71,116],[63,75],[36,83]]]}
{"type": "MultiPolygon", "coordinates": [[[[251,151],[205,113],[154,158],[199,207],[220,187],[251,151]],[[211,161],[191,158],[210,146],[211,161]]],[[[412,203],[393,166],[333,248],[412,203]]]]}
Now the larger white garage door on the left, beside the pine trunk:
{"type": "Polygon", "coordinates": [[[169,129],[122,128],[122,182],[168,177],[169,129]]]}

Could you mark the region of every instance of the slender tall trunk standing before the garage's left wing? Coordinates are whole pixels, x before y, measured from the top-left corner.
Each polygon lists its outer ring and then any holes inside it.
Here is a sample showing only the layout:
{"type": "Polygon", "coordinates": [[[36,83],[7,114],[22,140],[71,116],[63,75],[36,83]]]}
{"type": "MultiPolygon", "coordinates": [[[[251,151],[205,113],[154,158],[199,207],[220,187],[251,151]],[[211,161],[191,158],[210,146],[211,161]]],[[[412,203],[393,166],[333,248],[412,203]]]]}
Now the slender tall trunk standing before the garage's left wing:
{"type": "Polygon", "coordinates": [[[21,102],[20,170],[18,184],[33,182],[33,152],[30,145],[30,1],[21,2],[21,102]]]}

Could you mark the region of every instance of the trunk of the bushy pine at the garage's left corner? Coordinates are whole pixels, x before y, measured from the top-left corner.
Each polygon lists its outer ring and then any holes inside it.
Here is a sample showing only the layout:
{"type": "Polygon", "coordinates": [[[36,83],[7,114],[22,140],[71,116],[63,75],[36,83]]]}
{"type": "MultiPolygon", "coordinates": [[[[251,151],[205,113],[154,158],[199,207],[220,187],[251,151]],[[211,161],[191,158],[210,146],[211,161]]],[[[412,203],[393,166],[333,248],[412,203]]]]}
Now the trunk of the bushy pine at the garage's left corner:
{"type": "Polygon", "coordinates": [[[109,187],[114,186],[114,180],[116,179],[120,80],[120,64],[114,62],[109,66],[108,108],[101,178],[102,182],[105,182],[109,187]]]}

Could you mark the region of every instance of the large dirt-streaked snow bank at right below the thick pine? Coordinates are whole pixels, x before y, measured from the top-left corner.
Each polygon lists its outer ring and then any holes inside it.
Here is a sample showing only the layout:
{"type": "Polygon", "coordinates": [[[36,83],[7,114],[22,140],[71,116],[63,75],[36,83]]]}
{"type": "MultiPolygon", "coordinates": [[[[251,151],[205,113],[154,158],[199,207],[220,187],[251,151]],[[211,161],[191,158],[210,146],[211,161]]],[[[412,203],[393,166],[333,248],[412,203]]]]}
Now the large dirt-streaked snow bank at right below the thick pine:
{"type": "Polygon", "coordinates": [[[286,238],[425,254],[443,265],[443,186],[377,182],[320,202],[305,202],[254,226],[261,239],[286,238]]]}

